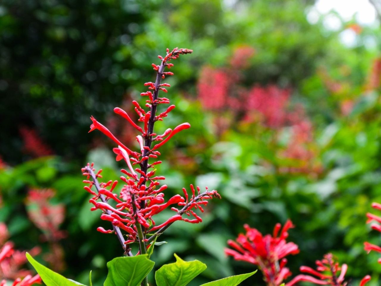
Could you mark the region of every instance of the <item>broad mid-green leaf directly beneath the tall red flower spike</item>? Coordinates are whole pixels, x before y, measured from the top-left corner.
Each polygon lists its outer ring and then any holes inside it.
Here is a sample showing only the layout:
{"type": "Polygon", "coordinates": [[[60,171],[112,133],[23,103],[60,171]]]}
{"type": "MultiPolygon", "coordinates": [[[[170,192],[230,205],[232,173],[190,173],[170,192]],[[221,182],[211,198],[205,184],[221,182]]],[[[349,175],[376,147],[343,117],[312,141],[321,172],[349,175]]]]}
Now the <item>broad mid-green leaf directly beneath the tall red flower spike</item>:
{"type": "Polygon", "coordinates": [[[155,262],[147,254],[117,257],[107,262],[109,273],[104,286],[139,286],[154,267],[155,262]]]}

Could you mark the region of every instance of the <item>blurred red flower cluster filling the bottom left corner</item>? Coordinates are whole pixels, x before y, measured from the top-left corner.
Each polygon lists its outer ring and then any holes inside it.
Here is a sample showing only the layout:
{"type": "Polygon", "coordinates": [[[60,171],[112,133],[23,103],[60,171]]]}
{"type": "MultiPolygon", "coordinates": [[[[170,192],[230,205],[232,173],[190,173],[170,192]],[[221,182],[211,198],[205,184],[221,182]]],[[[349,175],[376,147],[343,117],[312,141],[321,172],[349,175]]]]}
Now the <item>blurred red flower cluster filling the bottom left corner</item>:
{"type": "MultiPolygon", "coordinates": [[[[12,286],[30,286],[34,283],[41,283],[38,275],[26,269],[20,269],[25,264],[25,251],[14,249],[14,245],[8,239],[8,229],[4,223],[0,223],[0,286],[5,286],[7,280],[12,280],[12,286]]],[[[40,252],[38,247],[30,250],[30,254],[37,255],[40,252]]]]}

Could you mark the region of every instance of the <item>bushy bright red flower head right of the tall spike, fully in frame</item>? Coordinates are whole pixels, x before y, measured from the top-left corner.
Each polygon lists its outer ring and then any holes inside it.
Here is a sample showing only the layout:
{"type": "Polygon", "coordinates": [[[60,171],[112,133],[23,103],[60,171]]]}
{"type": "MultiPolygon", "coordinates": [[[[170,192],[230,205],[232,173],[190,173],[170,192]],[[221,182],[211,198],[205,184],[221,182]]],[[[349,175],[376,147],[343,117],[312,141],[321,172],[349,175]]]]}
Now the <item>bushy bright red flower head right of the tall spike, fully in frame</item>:
{"type": "Polygon", "coordinates": [[[286,242],[287,231],[293,227],[291,220],[287,220],[283,228],[280,223],[275,225],[273,235],[263,236],[257,229],[244,225],[246,234],[239,234],[236,241],[229,240],[227,244],[233,249],[226,248],[225,253],[233,256],[235,260],[258,265],[267,285],[279,286],[291,275],[290,270],[285,267],[285,257],[299,253],[295,243],[286,242]]]}

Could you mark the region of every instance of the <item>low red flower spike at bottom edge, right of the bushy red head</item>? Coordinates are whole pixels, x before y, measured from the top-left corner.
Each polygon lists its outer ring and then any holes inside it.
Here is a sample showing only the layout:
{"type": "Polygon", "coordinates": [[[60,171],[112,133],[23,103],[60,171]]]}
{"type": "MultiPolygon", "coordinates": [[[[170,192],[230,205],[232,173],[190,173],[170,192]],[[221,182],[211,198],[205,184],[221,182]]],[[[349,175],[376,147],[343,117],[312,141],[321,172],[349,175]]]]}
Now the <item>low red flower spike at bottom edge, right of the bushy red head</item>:
{"type": "MultiPolygon", "coordinates": [[[[316,270],[308,266],[301,266],[300,271],[314,276],[300,274],[293,280],[286,283],[286,286],[293,286],[301,281],[311,282],[317,285],[331,285],[331,286],[346,286],[347,281],[344,281],[344,276],[347,272],[348,266],[346,264],[339,265],[335,261],[331,253],[325,254],[322,260],[316,260],[316,270]],[[340,273],[340,274],[339,274],[340,273]]],[[[369,275],[362,278],[360,286],[364,286],[371,277],[369,275]]]]}

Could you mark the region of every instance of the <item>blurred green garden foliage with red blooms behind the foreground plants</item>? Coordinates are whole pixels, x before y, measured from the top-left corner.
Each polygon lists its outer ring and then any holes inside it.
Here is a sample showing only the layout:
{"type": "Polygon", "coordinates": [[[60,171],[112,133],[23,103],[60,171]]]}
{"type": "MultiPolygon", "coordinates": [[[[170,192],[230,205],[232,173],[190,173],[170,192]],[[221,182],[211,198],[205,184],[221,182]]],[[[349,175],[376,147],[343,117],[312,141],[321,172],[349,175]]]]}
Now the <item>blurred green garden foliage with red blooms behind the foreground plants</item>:
{"type": "Polygon", "coordinates": [[[155,268],[176,252],[208,265],[190,285],[251,272],[255,265],[225,256],[227,239],[244,223],[271,233],[290,218],[289,240],[301,250],[288,262],[294,275],[331,251],[353,281],[371,274],[378,285],[378,255],[363,242],[381,244],[365,224],[371,202],[381,202],[381,31],[376,16],[357,16],[312,0],[3,0],[0,222],[10,239],[40,246],[39,261],[77,281],[92,269],[101,285],[106,262],[122,253],[96,231],[107,223],[90,212],[80,169],[94,162],[115,179],[120,168],[111,142],[87,133],[90,116],[136,144],[112,109],[141,101],[165,48],[191,48],[168,79],[176,109],[167,124],[192,127],[163,147],[158,169],[168,193],[196,183],[223,199],[202,224],[176,222],[165,233],[155,268]],[[46,188],[45,201],[33,198],[46,188]]]}

